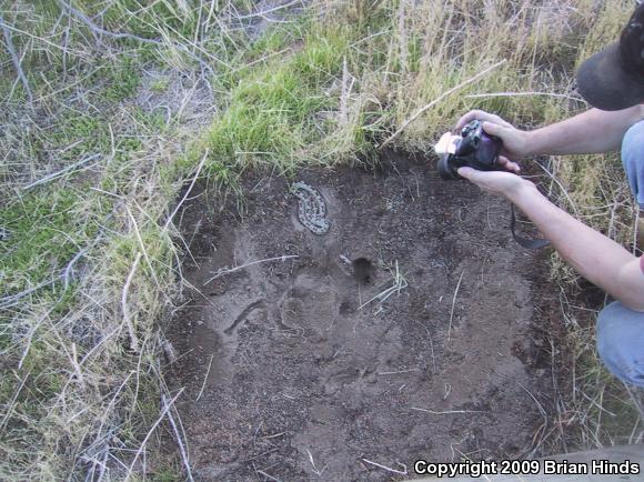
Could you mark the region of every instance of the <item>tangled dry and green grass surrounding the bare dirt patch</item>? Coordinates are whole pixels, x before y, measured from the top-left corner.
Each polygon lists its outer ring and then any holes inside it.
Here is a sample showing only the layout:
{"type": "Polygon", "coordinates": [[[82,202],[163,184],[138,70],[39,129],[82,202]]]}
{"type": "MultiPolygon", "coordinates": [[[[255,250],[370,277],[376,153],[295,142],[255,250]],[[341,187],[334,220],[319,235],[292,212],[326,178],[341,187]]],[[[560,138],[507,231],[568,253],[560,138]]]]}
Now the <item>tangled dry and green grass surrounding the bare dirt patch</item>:
{"type": "MultiPolygon", "coordinates": [[[[152,429],[180,432],[160,328],[181,297],[187,244],[168,220],[184,183],[373,162],[403,125],[393,145],[427,152],[472,108],[526,127],[565,118],[584,108],[570,88],[577,59],[615,37],[631,2],[212,6],[0,2],[2,480],[163,480],[187,463],[149,450],[152,429]]],[[[562,205],[631,242],[614,157],[550,169],[562,205]]],[[[556,257],[553,277],[576,282],[556,257]]],[[[593,360],[592,330],[570,330],[580,363],[559,426],[581,428],[582,445],[623,441],[601,408],[623,393],[593,360]]]]}

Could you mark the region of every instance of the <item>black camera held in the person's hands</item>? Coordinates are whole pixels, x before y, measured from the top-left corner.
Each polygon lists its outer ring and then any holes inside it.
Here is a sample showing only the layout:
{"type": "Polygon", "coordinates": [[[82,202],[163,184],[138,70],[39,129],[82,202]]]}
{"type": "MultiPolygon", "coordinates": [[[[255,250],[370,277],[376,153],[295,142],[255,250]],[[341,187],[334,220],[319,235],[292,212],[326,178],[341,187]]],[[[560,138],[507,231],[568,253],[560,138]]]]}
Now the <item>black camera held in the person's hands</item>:
{"type": "Polygon", "coordinates": [[[439,174],[444,180],[463,179],[456,170],[470,167],[480,171],[497,171],[499,152],[503,142],[483,130],[479,120],[471,121],[461,130],[461,137],[451,139],[450,149],[439,159],[439,174]]]}

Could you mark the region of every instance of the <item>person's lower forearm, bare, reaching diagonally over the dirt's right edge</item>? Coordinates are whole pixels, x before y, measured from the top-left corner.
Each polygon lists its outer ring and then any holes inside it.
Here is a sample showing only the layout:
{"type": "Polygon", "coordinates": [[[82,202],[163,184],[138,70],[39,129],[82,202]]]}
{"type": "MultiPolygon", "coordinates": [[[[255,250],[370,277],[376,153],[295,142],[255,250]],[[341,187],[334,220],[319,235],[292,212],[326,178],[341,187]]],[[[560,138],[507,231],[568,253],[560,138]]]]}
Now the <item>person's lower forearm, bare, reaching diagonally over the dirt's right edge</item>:
{"type": "Polygon", "coordinates": [[[555,207],[531,182],[507,197],[580,274],[631,309],[644,311],[644,275],[634,274],[633,254],[555,207]]]}

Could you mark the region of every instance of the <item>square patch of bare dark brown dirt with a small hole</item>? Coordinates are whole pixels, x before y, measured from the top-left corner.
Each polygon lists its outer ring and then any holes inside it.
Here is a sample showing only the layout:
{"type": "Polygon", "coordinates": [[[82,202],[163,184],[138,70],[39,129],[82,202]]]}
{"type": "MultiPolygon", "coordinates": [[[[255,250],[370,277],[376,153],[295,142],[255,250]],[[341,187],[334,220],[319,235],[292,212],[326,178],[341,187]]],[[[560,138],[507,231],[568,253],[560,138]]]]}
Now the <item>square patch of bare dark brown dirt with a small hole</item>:
{"type": "Polygon", "coordinates": [[[512,241],[509,207],[395,154],[295,181],[326,201],[325,234],[281,178],[246,178],[242,214],[208,191],[182,213],[194,289],[167,373],[195,479],[391,480],[368,461],[411,476],[417,459],[534,454],[550,354],[539,254],[512,241]]]}

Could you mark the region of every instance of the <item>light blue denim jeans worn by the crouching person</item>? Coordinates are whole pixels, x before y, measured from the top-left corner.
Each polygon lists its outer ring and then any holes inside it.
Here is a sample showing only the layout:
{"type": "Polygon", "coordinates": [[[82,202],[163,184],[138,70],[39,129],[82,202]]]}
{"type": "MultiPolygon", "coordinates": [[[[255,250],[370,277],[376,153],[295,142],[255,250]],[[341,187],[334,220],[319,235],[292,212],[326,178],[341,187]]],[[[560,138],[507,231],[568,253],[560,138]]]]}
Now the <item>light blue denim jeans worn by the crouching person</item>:
{"type": "MultiPolygon", "coordinates": [[[[622,163],[633,195],[644,209],[644,121],[626,131],[622,163]]],[[[618,301],[604,308],[597,320],[597,351],[615,376],[644,386],[644,313],[630,310],[618,301]]]]}

